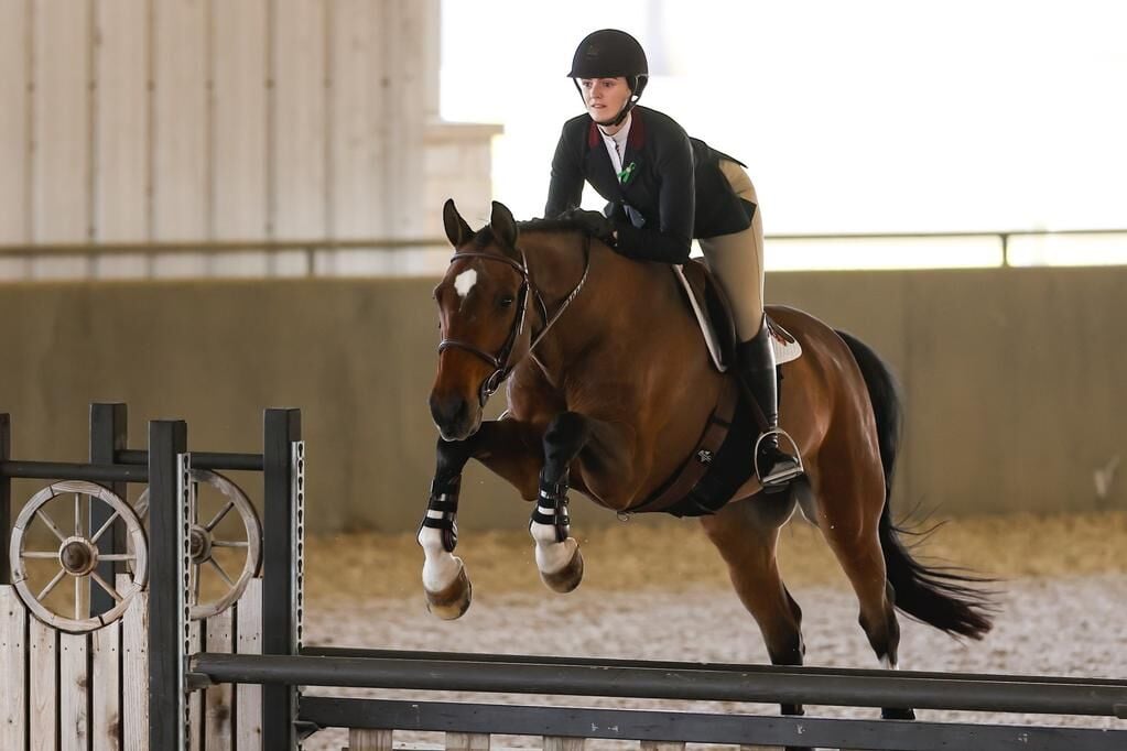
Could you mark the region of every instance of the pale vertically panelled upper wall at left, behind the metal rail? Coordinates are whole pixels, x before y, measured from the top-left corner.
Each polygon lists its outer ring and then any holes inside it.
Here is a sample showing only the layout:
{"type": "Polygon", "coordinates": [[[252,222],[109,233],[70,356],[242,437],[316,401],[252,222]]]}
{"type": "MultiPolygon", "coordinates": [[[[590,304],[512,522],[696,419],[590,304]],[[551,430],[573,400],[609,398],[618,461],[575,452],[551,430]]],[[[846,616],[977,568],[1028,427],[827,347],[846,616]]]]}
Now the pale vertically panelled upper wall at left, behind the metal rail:
{"type": "MultiPolygon", "coordinates": [[[[499,128],[440,122],[438,42],[438,0],[0,2],[0,245],[432,238],[447,196],[485,215],[499,128]]],[[[304,271],[0,256],[6,279],[304,271]]]]}

